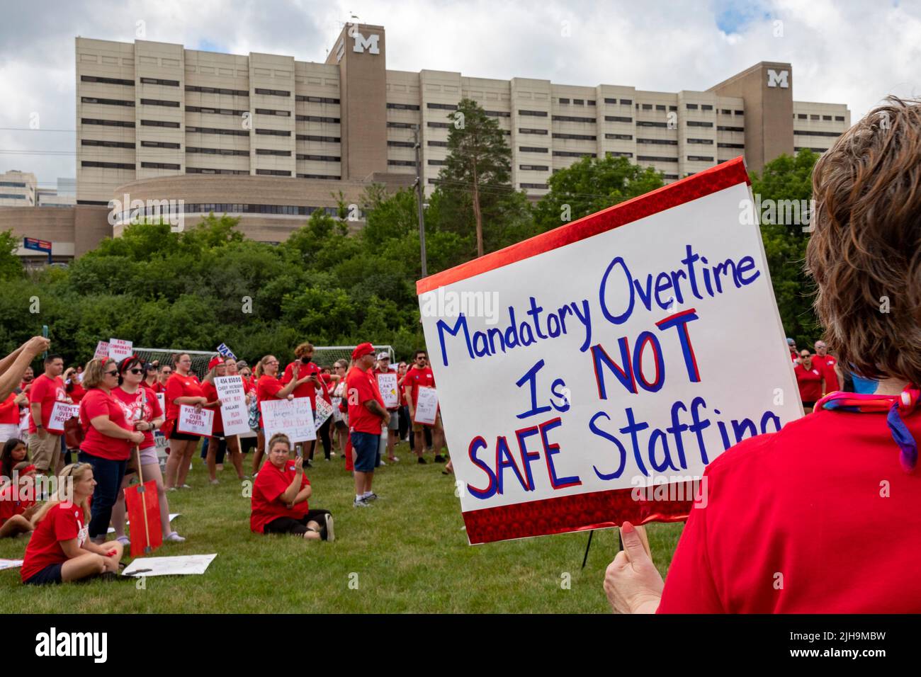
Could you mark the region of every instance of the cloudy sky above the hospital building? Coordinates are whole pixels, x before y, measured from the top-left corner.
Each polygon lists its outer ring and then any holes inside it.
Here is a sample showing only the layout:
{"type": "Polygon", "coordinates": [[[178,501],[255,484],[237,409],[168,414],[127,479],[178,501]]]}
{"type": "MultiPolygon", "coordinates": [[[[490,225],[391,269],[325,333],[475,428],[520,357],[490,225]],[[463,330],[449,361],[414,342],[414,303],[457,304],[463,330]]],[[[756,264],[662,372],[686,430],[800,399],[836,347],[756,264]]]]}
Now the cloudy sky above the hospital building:
{"type": "Polygon", "coordinates": [[[0,171],[75,176],[77,35],[322,62],[353,14],[387,30],[394,70],[678,91],[781,61],[794,99],[845,103],[854,122],[921,97],[921,0],[2,0],[0,171]]]}

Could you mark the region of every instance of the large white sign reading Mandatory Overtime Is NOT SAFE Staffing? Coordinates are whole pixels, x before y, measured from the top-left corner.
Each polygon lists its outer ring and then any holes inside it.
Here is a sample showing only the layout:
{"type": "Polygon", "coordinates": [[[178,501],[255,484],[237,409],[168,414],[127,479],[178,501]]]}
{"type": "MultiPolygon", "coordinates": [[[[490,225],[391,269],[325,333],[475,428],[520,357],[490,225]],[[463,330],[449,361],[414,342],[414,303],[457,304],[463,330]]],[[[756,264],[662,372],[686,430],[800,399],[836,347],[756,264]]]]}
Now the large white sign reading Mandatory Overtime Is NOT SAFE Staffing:
{"type": "Polygon", "coordinates": [[[471,543],[685,519],[802,415],[751,199],[738,158],[417,283],[471,543]]]}

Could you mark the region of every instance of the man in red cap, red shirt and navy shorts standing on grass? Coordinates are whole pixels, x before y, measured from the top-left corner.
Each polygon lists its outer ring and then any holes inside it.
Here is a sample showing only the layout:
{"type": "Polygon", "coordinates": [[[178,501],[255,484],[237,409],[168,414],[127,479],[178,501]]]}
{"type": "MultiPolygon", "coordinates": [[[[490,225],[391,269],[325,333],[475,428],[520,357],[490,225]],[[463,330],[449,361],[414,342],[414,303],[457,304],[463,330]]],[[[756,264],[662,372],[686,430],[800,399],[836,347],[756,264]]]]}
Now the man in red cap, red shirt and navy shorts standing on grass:
{"type": "Polygon", "coordinates": [[[348,401],[349,438],[355,450],[356,508],[367,508],[378,495],[371,491],[374,469],[380,460],[379,441],[391,414],[380,397],[374,366],[374,346],[359,344],[352,351],[354,366],[345,376],[345,398],[348,401]]]}

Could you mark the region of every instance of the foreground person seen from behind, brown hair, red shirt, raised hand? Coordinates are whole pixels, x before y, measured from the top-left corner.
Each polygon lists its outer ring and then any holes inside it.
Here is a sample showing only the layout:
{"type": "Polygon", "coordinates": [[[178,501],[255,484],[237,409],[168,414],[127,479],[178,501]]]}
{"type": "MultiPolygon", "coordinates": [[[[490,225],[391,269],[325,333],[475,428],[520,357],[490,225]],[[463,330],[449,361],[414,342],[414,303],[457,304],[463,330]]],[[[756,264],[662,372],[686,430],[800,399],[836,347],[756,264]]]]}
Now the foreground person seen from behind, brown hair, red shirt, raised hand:
{"type": "Polygon", "coordinates": [[[839,362],[875,391],[826,395],[814,413],[711,462],[664,586],[624,524],[627,554],[604,582],[615,610],[917,613],[919,166],[921,105],[889,97],[812,170],[815,309],[839,362]],[[899,290],[901,311],[860,300],[887,289],[899,290]]]}

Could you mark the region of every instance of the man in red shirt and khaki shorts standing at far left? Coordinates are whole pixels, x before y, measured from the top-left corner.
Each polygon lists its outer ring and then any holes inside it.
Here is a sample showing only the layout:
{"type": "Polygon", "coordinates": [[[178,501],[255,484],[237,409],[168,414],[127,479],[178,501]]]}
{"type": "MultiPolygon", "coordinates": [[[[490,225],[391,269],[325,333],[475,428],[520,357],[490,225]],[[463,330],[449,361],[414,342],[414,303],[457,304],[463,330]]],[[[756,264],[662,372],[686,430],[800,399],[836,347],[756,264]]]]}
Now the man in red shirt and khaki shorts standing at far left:
{"type": "Polygon", "coordinates": [[[55,402],[66,402],[64,390],[64,358],[49,354],[45,357],[45,371],[32,381],[29,389],[29,455],[39,474],[57,474],[61,461],[61,436],[64,432],[52,432],[48,423],[52,418],[55,402]]]}

